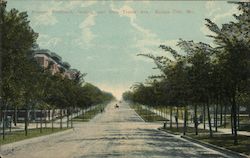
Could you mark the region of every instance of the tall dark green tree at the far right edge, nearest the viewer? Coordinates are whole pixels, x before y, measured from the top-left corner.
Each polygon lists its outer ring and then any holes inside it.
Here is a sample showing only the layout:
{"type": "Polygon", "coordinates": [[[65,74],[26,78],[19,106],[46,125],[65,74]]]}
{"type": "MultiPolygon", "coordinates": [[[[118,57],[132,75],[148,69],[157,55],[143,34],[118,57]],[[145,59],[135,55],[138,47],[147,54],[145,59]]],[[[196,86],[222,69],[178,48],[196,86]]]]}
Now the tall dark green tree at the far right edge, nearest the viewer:
{"type": "Polygon", "coordinates": [[[235,2],[239,5],[240,15],[234,15],[236,22],[223,24],[219,28],[206,19],[207,27],[215,34],[209,36],[217,45],[219,63],[224,72],[225,96],[232,106],[234,143],[237,144],[237,96],[242,84],[249,80],[250,61],[250,5],[248,2],[235,2]]]}

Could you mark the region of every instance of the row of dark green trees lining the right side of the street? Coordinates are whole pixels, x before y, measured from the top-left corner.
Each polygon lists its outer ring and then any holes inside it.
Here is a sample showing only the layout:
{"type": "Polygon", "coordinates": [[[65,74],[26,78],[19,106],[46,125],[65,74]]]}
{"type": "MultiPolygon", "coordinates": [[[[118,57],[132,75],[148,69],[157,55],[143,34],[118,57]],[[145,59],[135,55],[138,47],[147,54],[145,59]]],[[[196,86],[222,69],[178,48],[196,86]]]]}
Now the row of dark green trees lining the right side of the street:
{"type": "MultiPolygon", "coordinates": [[[[213,39],[213,47],[202,42],[180,39],[177,46],[185,55],[169,46],[160,45],[174,59],[138,54],[153,59],[161,74],[150,76],[146,84],[134,85],[132,91],[123,94],[123,98],[146,105],[184,107],[184,133],[188,106],[194,110],[196,133],[197,106],[202,107],[204,118],[207,112],[211,137],[211,107],[215,106],[215,111],[218,111],[219,106],[230,105],[232,133],[234,143],[237,144],[239,107],[246,105],[249,108],[250,103],[250,3],[235,4],[241,13],[233,15],[233,22],[223,24],[220,28],[206,19],[206,26],[213,33],[208,35],[213,39]]],[[[217,124],[217,114],[215,116],[217,124]]]]}

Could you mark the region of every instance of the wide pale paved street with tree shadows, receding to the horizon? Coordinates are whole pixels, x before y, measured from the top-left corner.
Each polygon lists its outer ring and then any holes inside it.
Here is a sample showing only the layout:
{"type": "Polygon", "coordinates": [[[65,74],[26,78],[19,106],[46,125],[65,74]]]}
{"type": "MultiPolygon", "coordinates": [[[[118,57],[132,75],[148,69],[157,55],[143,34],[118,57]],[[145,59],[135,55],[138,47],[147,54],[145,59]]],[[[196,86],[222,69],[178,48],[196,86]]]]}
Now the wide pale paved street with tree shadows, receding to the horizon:
{"type": "Polygon", "coordinates": [[[226,157],[145,123],[128,104],[105,112],[88,123],[77,123],[64,134],[35,138],[1,147],[3,158],[103,157],[226,157]]]}

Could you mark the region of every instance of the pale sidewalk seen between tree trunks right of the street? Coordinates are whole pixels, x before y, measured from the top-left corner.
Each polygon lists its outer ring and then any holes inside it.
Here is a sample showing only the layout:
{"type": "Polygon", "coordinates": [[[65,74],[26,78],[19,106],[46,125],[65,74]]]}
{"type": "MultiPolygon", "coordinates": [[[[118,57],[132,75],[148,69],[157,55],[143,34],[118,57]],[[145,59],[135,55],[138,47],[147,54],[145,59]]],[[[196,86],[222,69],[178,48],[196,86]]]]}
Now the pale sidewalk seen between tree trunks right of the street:
{"type": "MultiPolygon", "coordinates": [[[[166,118],[166,119],[170,119],[170,115],[164,113],[164,115],[161,115],[161,112],[159,110],[156,110],[156,109],[151,109],[151,108],[148,108],[144,105],[141,105],[143,109],[147,109],[147,110],[150,110],[151,112],[157,114],[157,115],[160,115],[161,117],[163,118],[166,118]]],[[[172,120],[174,121],[175,118],[174,116],[172,116],[172,120]]],[[[178,122],[179,123],[184,123],[184,120],[183,119],[178,119],[178,122]]],[[[189,127],[194,127],[194,124],[193,123],[189,123],[188,124],[189,127]]],[[[199,127],[198,128],[200,129],[203,129],[203,127],[199,127]]],[[[207,125],[206,126],[206,129],[209,129],[209,126],[207,125]]],[[[221,132],[221,133],[224,133],[224,134],[231,134],[231,129],[230,128],[218,128],[218,132],[221,132]]],[[[244,135],[244,136],[250,136],[250,132],[247,132],[247,131],[238,131],[238,134],[239,135],[244,135]]]]}

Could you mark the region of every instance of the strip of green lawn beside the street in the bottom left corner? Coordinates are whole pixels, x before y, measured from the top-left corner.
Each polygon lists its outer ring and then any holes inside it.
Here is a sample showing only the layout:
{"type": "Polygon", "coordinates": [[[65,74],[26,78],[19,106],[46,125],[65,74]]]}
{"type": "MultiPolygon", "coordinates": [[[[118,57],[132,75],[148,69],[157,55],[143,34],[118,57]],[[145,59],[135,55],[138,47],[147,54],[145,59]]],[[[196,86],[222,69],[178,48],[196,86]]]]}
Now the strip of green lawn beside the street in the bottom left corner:
{"type": "MultiPolygon", "coordinates": [[[[49,134],[52,134],[52,133],[65,131],[67,129],[69,129],[69,128],[63,128],[63,129],[54,128],[54,130],[52,131],[51,128],[43,128],[42,133],[40,133],[39,128],[38,129],[29,129],[27,136],[25,136],[24,131],[15,131],[15,132],[11,132],[11,133],[6,133],[6,136],[5,136],[4,140],[2,138],[0,138],[0,145],[17,142],[17,141],[21,141],[21,140],[24,140],[24,139],[49,135],[49,134]]],[[[1,135],[1,137],[2,137],[2,135],[1,135]]]]}

